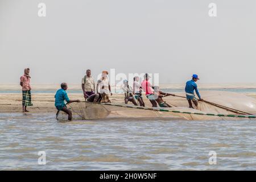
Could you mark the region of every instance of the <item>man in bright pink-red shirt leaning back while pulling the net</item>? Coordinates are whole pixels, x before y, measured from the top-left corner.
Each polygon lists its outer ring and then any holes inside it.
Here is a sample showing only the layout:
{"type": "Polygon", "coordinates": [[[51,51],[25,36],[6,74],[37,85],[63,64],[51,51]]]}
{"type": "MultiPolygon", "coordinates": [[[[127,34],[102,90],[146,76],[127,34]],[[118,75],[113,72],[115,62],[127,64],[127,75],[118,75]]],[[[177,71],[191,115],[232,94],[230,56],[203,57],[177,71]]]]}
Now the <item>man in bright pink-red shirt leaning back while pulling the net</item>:
{"type": "Polygon", "coordinates": [[[150,76],[146,73],[144,75],[144,80],[142,81],[142,89],[146,92],[146,97],[150,100],[152,107],[157,107],[158,103],[155,101],[156,97],[154,96],[154,89],[152,89],[151,83],[148,81],[150,76]]]}

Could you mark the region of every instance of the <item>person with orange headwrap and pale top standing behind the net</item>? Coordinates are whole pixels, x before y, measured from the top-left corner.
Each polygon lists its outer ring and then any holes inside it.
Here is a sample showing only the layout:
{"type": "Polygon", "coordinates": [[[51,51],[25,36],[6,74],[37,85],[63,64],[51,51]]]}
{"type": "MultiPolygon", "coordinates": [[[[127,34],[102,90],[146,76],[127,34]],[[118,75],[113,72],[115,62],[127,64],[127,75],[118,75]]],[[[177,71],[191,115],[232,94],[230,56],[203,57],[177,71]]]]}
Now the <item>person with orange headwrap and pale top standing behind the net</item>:
{"type": "Polygon", "coordinates": [[[101,78],[97,82],[97,93],[101,95],[101,103],[111,103],[109,94],[112,96],[111,86],[108,78],[108,71],[102,71],[101,78]]]}

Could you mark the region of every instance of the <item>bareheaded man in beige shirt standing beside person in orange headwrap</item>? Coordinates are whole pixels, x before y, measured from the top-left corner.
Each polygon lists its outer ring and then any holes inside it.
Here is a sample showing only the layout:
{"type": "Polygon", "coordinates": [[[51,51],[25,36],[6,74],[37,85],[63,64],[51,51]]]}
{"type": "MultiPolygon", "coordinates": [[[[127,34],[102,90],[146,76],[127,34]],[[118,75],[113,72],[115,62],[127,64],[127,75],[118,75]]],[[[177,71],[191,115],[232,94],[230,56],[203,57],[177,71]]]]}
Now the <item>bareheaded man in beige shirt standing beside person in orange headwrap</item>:
{"type": "Polygon", "coordinates": [[[82,92],[84,93],[85,101],[86,98],[95,93],[94,78],[91,76],[90,69],[86,70],[86,75],[82,78],[82,92]]]}

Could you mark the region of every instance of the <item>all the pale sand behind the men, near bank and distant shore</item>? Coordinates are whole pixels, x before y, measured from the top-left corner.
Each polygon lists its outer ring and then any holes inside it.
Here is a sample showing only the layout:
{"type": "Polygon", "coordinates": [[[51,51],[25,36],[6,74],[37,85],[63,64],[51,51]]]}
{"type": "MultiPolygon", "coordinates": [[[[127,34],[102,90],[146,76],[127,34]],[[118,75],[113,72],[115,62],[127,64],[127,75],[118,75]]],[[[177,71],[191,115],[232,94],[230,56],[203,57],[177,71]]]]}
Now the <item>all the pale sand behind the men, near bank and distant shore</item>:
{"type": "MultiPolygon", "coordinates": [[[[80,90],[80,84],[69,84],[69,90],[80,90]]],[[[162,84],[160,88],[183,88],[183,84],[162,84]]],[[[200,84],[200,89],[216,89],[216,88],[256,88],[256,84],[200,84]]],[[[36,90],[57,90],[57,84],[32,84],[32,103],[28,110],[31,113],[56,113],[54,106],[55,98],[53,93],[33,93],[36,90]]],[[[0,90],[20,90],[17,84],[0,84],[0,90]]],[[[114,90],[114,89],[112,89],[114,90]]],[[[184,94],[184,93],[180,93],[184,94]]],[[[245,93],[247,96],[256,98],[256,93],[245,93]]],[[[81,93],[68,94],[71,100],[84,101],[81,93]]],[[[22,112],[22,92],[20,93],[2,93],[0,94],[0,113],[20,113],[22,112]]],[[[123,103],[123,94],[113,94],[110,97],[113,103],[123,103]]],[[[151,106],[150,102],[143,96],[146,106],[151,106]]],[[[171,101],[172,97],[166,97],[164,100],[171,101]]]]}

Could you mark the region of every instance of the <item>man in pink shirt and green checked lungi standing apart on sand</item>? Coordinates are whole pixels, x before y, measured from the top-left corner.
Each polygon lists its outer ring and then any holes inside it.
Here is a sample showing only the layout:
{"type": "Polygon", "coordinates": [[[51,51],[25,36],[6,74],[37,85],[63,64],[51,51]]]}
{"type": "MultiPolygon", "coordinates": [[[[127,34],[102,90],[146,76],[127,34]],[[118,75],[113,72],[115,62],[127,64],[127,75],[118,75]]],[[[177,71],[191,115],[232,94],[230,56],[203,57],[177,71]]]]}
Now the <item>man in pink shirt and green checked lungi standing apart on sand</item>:
{"type": "Polygon", "coordinates": [[[30,68],[24,69],[24,75],[20,77],[20,86],[22,86],[22,112],[29,112],[27,106],[32,106],[31,86],[30,86],[30,68]]]}

